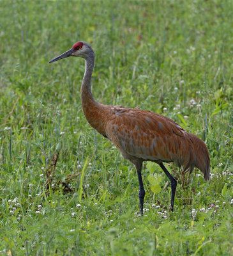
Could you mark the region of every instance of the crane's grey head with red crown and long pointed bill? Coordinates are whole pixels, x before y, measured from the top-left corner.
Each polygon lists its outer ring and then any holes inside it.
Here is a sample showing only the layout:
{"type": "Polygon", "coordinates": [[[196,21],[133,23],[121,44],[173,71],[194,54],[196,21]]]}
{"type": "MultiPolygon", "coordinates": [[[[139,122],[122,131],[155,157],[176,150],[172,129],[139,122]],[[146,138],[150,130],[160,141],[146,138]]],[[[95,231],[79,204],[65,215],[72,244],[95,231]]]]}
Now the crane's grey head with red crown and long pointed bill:
{"type": "Polygon", "coordinates": [[[63,54],[59,55],[58,57],[50,60],[49,63],[61,60],[67,57],[82,57],[84,59],[89,58],[90,56],[94,56],[94,51],[89,44],[86,42],[77,42],[75,43],[70,50],[64,52],[63,54]]]}

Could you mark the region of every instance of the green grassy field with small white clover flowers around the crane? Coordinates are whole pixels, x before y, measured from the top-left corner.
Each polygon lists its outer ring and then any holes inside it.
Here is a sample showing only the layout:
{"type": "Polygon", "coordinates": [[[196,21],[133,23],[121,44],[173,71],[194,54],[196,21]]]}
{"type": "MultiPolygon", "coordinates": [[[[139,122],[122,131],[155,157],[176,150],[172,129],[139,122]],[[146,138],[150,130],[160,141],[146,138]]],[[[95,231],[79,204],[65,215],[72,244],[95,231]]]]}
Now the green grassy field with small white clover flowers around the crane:
{"type": "Polygon", "coordinates": [[[0,255],[233,254],[232,12],[220,0],[1,1],[0,255]],[[96,100],[206,141],[211,179],[179,182],[174,212],[167,177],[145,163],[140,217],[135,168],[82,113],[84,60],[48,65],[77,41],[96,53],[96,100]]]}

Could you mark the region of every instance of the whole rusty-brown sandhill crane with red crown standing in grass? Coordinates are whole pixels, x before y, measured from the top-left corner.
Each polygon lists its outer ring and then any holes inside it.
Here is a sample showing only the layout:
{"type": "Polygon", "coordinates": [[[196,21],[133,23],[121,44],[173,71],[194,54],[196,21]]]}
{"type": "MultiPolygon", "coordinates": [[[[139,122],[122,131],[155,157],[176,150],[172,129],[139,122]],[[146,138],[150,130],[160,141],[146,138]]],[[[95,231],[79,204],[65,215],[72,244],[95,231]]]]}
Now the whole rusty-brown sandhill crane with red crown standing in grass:
{"type": "Polygon", "coordinates": [[[139,203],[143,214],[145,190],[142,182],[142,163],[153,161],[162,168],[170,180],[170,209],[173,211],[177,181],[163,165],[174,162],[184,171],[199,168],[204,179],[209,179],[210,159],[206,144],[194,134],[184,131],[170,118],[151,111],[103,105],[91,93],[94,51],[86,42],[77,42],[72,48],[49,63],[70,56],[85,59],[82,79],[82,109],[87,122],[119,149],[125,159],[135,165],[139,179],[139,203]]]}

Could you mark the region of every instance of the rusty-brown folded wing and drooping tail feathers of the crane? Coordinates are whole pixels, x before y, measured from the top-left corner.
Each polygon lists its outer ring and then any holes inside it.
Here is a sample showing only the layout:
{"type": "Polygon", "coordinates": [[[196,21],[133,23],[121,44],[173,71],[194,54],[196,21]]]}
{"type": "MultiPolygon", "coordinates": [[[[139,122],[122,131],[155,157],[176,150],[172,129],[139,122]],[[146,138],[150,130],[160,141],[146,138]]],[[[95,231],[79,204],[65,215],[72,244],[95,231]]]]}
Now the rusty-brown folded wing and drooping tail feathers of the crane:
{"type": "Polygon", "coordinates": [[[209,179],[209,152],[197,136],[150,111],[117,106],[114,115],[107,124],[107,134],[128,157],[174,162],[190,172],[196,166],[209,179]]]}

